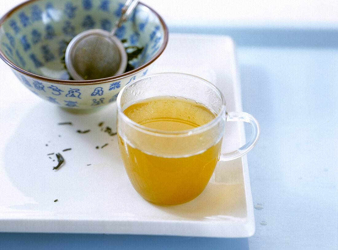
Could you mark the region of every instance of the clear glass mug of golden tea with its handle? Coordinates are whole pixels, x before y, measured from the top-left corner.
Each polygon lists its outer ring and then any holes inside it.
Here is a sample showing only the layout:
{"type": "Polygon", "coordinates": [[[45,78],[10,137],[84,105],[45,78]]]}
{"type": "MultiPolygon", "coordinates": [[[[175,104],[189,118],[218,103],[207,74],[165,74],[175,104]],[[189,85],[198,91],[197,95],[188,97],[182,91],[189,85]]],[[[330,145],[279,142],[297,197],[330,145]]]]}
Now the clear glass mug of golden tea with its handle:
{"type": "MultiPolygon", "coordinates": [[[[174,109],[170,106],[164,111],[170,115],[163,116],[176,115],[174,109]]],[[[190,114],[187,108],[185,111],[189,113],[185,119],[199,116],[190,114]]],[[[204,190],[217,161],[233,160],[250,151],[258,141],[260,129],[250,114],[226,112],[224,97],[212,83],[183,73],[158,73],[138,78],[120,91],[117,134],[123,164],[134,189],[150,202],[174,205],[188,202],[204,190]],[[213,119],[187,130],[168,131],[141,125],[124,113],[134,110],[134,115],[147,120],[147,114],[154,111],[140,111],[131,105],[154,97],[169,98],[170,105],[176,100],[190,101],[191,110],[198,109],[194,103],[202,104],[213,113],[213,119]],[[228,121],[248,122],[252,133],[244,146],[221,153],[224,124],[228,121]]]]}

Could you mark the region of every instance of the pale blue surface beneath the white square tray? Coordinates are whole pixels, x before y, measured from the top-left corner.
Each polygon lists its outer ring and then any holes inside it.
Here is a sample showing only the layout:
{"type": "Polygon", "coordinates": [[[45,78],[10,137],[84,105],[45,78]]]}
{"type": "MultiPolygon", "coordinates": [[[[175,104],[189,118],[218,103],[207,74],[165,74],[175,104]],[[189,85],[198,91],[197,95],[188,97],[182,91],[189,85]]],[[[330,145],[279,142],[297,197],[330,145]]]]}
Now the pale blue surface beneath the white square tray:
{"type": "Polygon", "coordinates": [[[254,236],[0,233],[0,249],[337,249],[338,30],[169,28],[238,45],[243,110],[261,125],[247,155],[264,206],[254,236]]]}

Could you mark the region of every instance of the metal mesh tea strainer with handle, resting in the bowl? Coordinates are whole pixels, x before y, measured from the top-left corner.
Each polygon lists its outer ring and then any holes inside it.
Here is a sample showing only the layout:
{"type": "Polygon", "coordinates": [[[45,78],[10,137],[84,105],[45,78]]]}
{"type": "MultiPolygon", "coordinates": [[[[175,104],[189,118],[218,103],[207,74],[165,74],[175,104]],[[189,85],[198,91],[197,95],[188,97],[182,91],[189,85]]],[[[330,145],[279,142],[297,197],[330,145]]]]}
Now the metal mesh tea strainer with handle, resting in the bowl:
{"type": "Polygon", "coordinates": [[[94,80],[124,73],[127,53],[115,33],[135,9],[139,0],[127,0],[121,17],[111,32],[90,29],[76,35],[68,44],[65,63],[74,80],[94,80]]]}

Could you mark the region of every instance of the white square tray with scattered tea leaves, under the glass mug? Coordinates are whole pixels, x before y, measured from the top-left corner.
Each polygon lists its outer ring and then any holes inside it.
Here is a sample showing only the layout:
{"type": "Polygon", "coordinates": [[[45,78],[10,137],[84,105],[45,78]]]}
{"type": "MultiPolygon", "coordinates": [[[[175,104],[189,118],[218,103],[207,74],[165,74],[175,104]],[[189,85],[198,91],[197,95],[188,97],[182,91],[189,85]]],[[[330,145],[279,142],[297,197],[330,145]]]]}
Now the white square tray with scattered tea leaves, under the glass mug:
{"type": "MultiPolygon", "coordinates": [[[[29,92],[4,62],[0,70],[0,231],[206,237],[254,234],[246,156],[219,162],[206,190],[193,201],[176,206],[151,204],[132,188],[116,135],[104,132],[107,126],[116,131],[115,104],[92,114],[67,113],[29,92]],[[60,122],[72,125],[58,125],[60,122]],[[104,122],[102,127],[100,122],[104,122]],[[76,132],[87,129],[90,132],[76,132]],[[71,150],[63,152],[67,148],[71,150]],[[53,170],[56,157],[48,154],[57,152],[66,163],[53,170]]],[[[168,46],[152,70],[164,71],[211,81],[223,92],[227,110],[241,111],[231,38],[170,34],[168,46]]],[[[243,124],[227,123],[224,137],[223,151],[243,145],[243,124]]]]}

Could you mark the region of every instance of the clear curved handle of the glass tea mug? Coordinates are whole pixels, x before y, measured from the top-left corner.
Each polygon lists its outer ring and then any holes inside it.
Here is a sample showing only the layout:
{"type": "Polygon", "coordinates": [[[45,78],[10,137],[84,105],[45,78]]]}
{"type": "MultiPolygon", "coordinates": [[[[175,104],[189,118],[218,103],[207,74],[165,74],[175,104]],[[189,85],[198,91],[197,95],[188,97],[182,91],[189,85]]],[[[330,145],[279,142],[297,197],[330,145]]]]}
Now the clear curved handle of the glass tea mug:
{"type": "Polygon", "coordinates": [[[225,113],[225,121],[227,122],[247,122],[251,125],[251,137],[247,143],[245,143],[239,149],[234,151],[229,151],[225,153],[221,153],[219,160],[220,161],[227,161],[227,160],[234,160],[249,152],[257,143],[260,135],[260,128],[259,123],[255,117],[252,115],[245,113],[245,112],[226,112],[225,113]]]}

